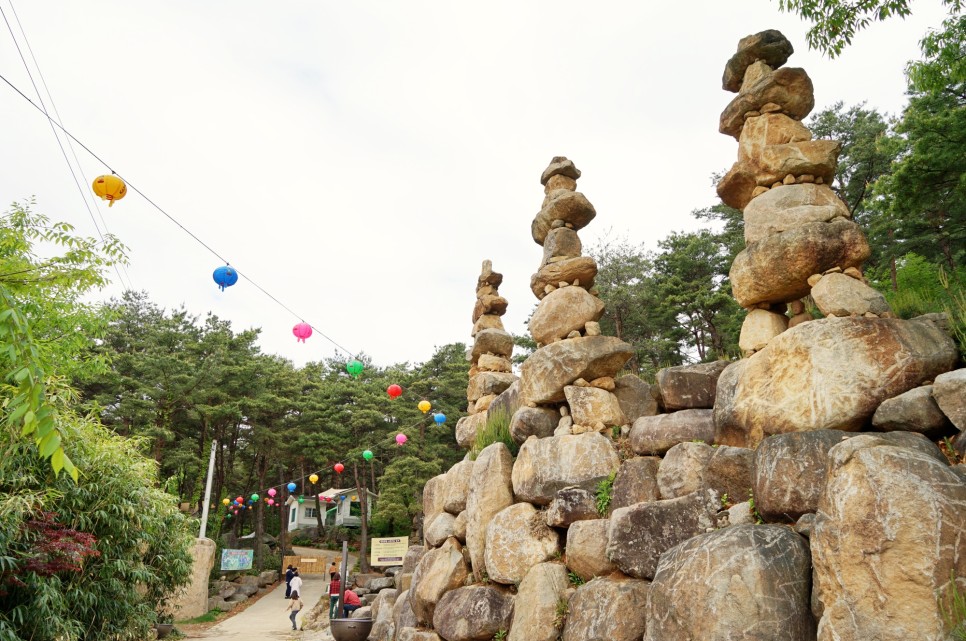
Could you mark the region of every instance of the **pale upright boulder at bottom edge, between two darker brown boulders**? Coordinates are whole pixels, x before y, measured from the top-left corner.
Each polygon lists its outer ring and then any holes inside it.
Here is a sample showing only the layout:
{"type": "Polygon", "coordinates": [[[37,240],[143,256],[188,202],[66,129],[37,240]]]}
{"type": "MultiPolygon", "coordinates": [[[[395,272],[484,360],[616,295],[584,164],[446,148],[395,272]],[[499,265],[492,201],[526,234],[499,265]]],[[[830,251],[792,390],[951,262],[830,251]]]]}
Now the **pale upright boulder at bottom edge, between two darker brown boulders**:
{"type": "Polygon", "coordinates": [[[568,585],[567,568],[560,563],[530,568],[517,589],[507,641],[557,641],[560,631],[553,620],[568,585]]]}

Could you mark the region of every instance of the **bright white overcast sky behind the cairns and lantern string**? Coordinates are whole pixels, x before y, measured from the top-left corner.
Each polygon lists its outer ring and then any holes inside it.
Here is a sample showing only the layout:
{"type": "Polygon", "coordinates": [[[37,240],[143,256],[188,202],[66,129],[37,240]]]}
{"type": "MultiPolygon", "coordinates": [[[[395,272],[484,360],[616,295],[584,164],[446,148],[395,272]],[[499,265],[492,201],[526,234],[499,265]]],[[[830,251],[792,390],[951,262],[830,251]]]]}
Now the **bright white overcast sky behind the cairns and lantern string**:
{"type": "MultiPolygon", "coordinates": [[[[378,365],[468,342],[484,259],[504,274],[507,329],[525,332],[542,255],[530,222],[553,156],[574,160],[597,209],[585,253],[608,230],[653,248],[696,228],[690,212],[716,202],[710,176],[737,153],[717,129],[733,97],[721,74],[741,37],[781,30],[817,109],[866,101],[898,113],[903,66],[943,18],[940,2],[914,3],[909,19],[873,25],[828,60],[777,0],[656,6],[13,0],[65,127],[378,365]]],[[[12,21],[10,0],[0,7],[12,21]]],[[[0,74],[35,99],[0,26],[0,74]]],[[[37,211],[96,234],[45,118],[3,84],[0,116],[3,204],[35,196],[37,211]]],[[[86,195],[109,170],[77,154],[86,195]]],[[[250,283],[219,291],[219,260],[138,194],[97,203],[98,224],[130,248],[122,275],[156,303],[261,327],[263,350],[298,365],[336,353],[318,335],[297,343],[299,318],[250,283]]]]}

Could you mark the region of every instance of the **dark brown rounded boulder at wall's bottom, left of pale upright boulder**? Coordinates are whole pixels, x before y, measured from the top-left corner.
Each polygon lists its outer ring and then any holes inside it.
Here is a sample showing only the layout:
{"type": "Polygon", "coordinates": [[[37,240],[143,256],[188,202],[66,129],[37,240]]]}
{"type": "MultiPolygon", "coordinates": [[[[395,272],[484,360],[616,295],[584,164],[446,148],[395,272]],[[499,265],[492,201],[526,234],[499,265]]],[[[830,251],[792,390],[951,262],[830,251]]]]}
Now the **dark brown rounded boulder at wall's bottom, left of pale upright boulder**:
{"type": "Polygon", "coordinates": [[[446,641],[489,641],[510,626],[513,595],[488,585],[447,592],[433,615],[433,627],[446,641]]]}

